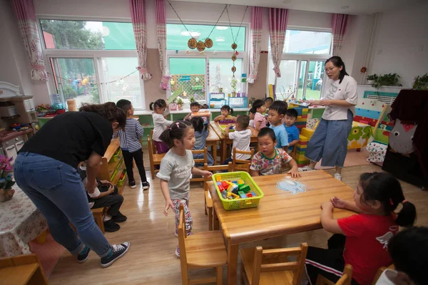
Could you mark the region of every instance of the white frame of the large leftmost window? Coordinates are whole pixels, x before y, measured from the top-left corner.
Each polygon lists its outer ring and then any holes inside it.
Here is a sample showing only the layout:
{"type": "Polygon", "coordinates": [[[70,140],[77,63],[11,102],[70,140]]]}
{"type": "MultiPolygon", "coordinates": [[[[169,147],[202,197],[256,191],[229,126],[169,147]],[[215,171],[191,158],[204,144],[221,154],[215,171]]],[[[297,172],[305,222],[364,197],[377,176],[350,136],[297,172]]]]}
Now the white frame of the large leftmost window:
{"type": "MultiPolygon", "coordinates": [[[[101,67],[101,58],[138,58],[137,50],[88,50],[88,49],[55,49],[46,48],[43,29],[41,28],[41,20],[58,20],[58,21],[106,21],[106,22],[120,22],[120,23],[132,23],[131,19],[126,18],[100,18],[93,16],[45,16],[36,15],[37,25],[39,27],[39,36],[41,38],[41,49],[44,56],[46,71],[54,74],[51,66],[51,58],[92,58],[93,65],[95,68],[95,76],[97,82],[105,82],[103,78],[103,72],[101,67]]],[[[131,71],[130,71],[131,73],[131,71]]],[[[55,94],[56,90],[55,80],[48,80],[47,86],[50,94],[55,94]]],[[[100,103],[107,102],[107,94],[103,90],[101,84],[97,84],[98,94],[100,94],[100,103]]],[[[135,110],[146,110],[146,93],[144,90],[144,81],[140,78],[141,88],[141,108],[135,108],[135,110]]]]}

